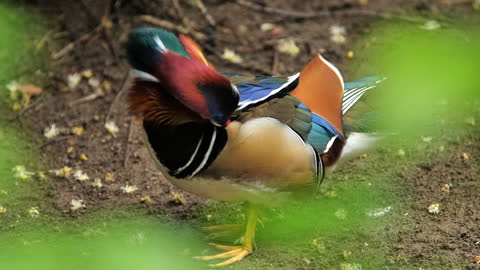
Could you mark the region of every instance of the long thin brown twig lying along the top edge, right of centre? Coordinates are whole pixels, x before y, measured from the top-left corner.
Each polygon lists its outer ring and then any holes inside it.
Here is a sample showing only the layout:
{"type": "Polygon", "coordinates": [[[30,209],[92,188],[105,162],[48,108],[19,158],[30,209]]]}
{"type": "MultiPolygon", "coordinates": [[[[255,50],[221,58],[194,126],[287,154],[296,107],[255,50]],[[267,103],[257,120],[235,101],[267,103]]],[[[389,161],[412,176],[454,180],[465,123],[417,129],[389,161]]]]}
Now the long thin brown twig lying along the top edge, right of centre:
{"type": "Polygon", "coordinates": [[[237,4],[244,6],[246,8],[249,8],[251,10],[269,13],[269,14],[276,14],[276,15],[281,15],[281,16],[291,17],[296,19],[312,19],[312,18],[337,15],[337,16],[374,16],[374,17],[380,17],[383,19],[400,19],[400,20],[415,22],[415,23],[423,22],[422,19],[401,16],[401,15],[393,15],[393,14],[381,14],[376,11],[371,11],[366,9],[347,9],[347,10],[320,11],[320,12],[299,12],[299,11],[290,11],[290,10],[283,10],[283,9],[262,6],[247,0],[236,0],[236,2],[237,4]]]}

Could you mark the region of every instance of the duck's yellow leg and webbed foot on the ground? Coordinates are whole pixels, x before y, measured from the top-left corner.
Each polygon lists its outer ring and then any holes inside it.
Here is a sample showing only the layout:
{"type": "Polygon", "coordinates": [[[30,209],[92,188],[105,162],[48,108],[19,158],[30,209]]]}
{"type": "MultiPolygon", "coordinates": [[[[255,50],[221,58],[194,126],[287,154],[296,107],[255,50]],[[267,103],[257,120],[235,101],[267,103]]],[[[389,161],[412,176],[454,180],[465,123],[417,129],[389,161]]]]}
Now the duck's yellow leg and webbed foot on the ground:
{"type": "Polygon", "coordinates": [[[223,252],[213,256],[201,256],[197,258],[201,260],[229,258],[221,263],[210,265],[214,267],[228,265],[245,258],[245,256],[252,253],[255,245],[254,241],[255,241],[255,228],[257,225],[257,218],[258,218],[258,208],[255,205],[248,203],[247,224],[245,225],[245,234],[243,237],[243,244],[241,246],[224,246],[224,245],[213,244],[215,247],[226,250],[227,252],[223,252]]]}

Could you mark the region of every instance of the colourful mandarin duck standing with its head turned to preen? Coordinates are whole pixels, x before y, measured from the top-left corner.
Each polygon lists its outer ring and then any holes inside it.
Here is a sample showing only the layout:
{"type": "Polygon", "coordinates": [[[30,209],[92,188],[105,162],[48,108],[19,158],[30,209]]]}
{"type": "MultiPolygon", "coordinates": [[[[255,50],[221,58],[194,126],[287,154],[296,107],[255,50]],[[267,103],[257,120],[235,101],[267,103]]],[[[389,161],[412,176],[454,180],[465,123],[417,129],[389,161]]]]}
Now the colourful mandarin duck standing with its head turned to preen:
{"type": "Polygon", "coordinates": [[[344,83],[320,55],[290,77],[219,73],[191,38],[158,28],[133,30],[127,56],[129,109],[141,112],[159,170],[187,192],[247,202],[243,243],[199,257],[226,258],[213,266],[253,251],[259,205],[295,187],[315,191],[325,168],[352,152],[343,116],[380,81],[344,83]]]}

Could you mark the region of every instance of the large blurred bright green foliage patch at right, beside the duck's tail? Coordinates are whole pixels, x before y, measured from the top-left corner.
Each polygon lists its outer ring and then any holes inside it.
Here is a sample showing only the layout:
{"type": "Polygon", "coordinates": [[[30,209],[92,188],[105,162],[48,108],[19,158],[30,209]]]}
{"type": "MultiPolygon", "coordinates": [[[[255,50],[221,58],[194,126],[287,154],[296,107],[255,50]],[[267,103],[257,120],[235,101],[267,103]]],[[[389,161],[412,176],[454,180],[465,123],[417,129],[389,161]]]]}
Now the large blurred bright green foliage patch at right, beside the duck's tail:
{"type": "Polygon", "coordinates": [[[374,95],[380,129],[438,132],[442,119],[461,118],[471,108],[468,103],[480,96],[480,32],[441,26],[386,25],[360,44],[370,47],[365,58],[388,77],[374,95]]]}

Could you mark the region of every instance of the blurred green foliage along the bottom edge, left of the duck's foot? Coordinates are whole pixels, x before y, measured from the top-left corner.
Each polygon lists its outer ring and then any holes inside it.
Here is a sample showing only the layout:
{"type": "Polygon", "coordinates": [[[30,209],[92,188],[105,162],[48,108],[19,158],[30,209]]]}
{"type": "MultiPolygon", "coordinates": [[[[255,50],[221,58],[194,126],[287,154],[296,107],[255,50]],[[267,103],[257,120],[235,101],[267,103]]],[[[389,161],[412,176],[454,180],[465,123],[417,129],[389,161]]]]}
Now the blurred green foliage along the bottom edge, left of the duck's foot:
{"type": "MultiPolygon", "coordinates": [[[[39,229],[39,228],[37,228],[39,229]]],[[[85,226],[83,234],[22,232],[13,244],[0,244],[0,267],[14,270],[206,269],[192,259],[195,235],[147,220],[116,220],[85,226]],[[147,225],[149,224],[149,225],[147,225]]],[[[0,237],[0,239],[2,239],[0,237]]],[[[3,239],[5,240],[5,239],[3,239]]],[[[8,242],[7,242],[8,243],[8,242]]]]}

